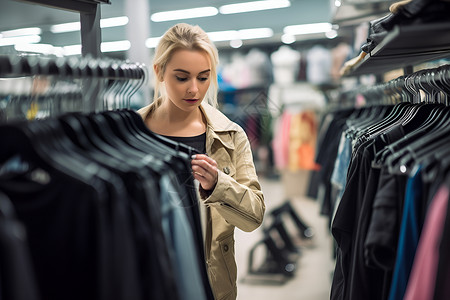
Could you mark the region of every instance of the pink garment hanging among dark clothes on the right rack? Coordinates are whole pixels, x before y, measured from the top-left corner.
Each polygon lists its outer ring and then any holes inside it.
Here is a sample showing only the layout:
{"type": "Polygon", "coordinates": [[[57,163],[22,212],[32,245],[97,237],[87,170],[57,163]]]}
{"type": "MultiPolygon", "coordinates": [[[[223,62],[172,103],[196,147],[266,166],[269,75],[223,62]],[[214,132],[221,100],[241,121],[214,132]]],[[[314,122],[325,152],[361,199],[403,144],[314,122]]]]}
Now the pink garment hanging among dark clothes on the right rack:
{"type": "Polygon", "coordinates": [[[445,222],[449,190],[443,185],[433,197],[420,234],[405,300],[432,300],[439,262],[439,242],[445,222]]]}

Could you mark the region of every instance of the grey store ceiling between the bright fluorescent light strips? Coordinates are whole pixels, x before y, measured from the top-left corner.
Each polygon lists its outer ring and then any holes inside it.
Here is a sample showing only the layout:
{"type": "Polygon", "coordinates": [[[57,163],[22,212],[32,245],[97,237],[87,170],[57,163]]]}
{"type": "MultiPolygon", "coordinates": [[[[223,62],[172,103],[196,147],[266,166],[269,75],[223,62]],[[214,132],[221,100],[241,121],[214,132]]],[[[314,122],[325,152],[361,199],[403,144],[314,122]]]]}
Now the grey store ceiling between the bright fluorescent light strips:
{"type": "MultiPolygon", "coordinates": [[[[60,0],[64,1],[64,0],[60,0]]],[[[128,16],[130,12],[126,10],[126,1],[135,0],[110,0],[111,4],[101,5],[102,18],[111,18],[119,16],[128,16]]],[[[219,8],[222,5],[244,2],[245,0],[148,0],[148,15],[152,13],[178,10],[202,6],[214,6],[219,8]]],[[[247,0],[251,1],[251,0],[247,0]]],[[[139,1],[136,1],[139,2],[139,1]]],[[[281,35],[283,28],[288,25],[333,22],[336,11],[334,10],[334,1],[330,0],[290,0],[291,6],[287,8],[266,10],[259,12],[248,12],[232,15],[218,14],[213,17],[204,17],[196,19],[185,19],[167,22],[149,21],[149,37],[161,36],[170,26],[178,22],[187,22],[200,25],[205,31],[239,30],[250,28],[269,27],[274,31],[274,35],[269,39],[247,40],[244,45],[258,44],[281,44],[281,35]]],[[[50,32],[50,26],[54,24],[79,21],[79,14],[64,10],[58,10],[41,5],[30,4],[17,0],[0,0],[0,31],[40,27],[41,43],[51,44],[62,47],[81,43],[80,32],[58,33],[50,32]]],[[[140,9],[136,7],[136,9],[140,9]]],[[[345,30],[339,32],[345,36],[349,33],[345,30]]],[[[351,34],[351,33],[350,33],[351,34]]],[[[127,30],[125,26],[103,28],[102,41],[112,42],[127,39],[127,30]]],[[[325,40],[324,34],[297,36],[297,41],[325,40]]],[[[218,47],[228,47],[229,42],[220,42],[218,47]]],[[[1,48],[1,47],[0,47],[1,48]]],[[[0,53],[2,50],[0,49],[0,53]]]]}

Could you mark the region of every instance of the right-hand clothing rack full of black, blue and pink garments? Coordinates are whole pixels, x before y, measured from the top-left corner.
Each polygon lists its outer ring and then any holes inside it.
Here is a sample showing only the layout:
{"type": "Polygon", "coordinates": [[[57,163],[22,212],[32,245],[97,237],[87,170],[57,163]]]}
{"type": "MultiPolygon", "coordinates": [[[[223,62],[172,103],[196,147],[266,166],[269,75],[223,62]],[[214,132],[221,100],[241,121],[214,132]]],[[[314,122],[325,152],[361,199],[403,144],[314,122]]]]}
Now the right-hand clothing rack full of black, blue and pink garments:
{"type": "Polygon", "coordinates": [[[337,246],[331,299],[450,296],[449,87],[450,65],[424,69],[350,91],[363,105],[327,113],[318,160],[337,246]]]}

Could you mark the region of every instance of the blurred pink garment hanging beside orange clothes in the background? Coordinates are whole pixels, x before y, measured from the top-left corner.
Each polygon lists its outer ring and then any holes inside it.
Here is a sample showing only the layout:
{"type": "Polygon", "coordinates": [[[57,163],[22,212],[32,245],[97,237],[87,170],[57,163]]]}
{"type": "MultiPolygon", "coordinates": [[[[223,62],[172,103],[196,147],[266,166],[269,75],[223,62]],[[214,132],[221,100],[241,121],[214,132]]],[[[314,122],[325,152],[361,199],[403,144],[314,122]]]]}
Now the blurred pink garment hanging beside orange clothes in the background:
{"type": "Polygon", "coordinates": [[[291,115],[285,111],[278,119],[272,141],[275,166],[282,170],[289,162],[289,132],[291,126],[291,115]]]}

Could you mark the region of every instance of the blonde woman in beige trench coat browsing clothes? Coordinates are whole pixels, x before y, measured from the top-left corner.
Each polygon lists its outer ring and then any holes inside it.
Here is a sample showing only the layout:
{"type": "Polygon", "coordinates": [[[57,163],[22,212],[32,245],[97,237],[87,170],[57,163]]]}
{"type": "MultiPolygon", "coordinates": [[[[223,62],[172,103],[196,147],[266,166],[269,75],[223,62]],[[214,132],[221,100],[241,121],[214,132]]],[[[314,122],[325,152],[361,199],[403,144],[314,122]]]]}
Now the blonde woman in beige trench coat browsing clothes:
{"type": "Polygon", "coordinates": [[[245,132],[214,107],[217,64],[200,27],[173,26],[156,48],[154,101],[139,113],[151,131],[204,153],[193,157],[192,174],[204,204],[209,280],[215,299],[236,299],[234,228],[258,228],[265,205],[245,132]]]}

